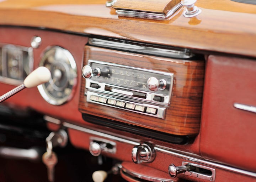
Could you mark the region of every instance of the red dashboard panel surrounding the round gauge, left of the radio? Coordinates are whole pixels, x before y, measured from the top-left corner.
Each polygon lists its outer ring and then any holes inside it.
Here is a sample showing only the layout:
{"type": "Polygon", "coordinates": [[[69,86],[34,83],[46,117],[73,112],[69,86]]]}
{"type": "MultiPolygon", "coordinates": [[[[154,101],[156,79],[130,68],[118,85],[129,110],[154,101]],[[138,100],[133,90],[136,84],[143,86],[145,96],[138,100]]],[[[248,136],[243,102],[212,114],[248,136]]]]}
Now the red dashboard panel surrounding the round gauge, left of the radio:
{"type": "MultiPolygon", "coordinates": [[[[37,49],[33,49],[33,69],[39,66],[44,52],[51,46],[59,46],[68,50],[74,57],[77,67],[77,83],[74,86],[73,97],[69,102],[54,106],[46,102],[40,95],[38,89],[24,89],[15,96],[7,99],[2,104],[13,108],[32,108],[38,112],[66,120],[82,121],[81,113],[78,111],[79,88],[81,83],[81,65],[84,54],[84,45],[88,38],[67,33],[59,33],[47,30],[37,30],[29,28],[1,28],[0,43],[16,46],[31,47],[33,36],[40,36],[42,44],[37,49]]],[[[15,86],[8,83],[0,84],[0,95],[10,91],[15,86]]]]}

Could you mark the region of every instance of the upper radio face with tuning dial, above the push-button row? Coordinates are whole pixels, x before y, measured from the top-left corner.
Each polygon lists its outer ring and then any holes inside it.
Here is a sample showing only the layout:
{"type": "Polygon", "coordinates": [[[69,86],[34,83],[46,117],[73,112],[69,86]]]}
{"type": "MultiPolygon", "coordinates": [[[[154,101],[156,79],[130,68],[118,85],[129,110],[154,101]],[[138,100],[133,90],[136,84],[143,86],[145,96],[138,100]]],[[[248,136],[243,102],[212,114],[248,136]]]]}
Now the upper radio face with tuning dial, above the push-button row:
{"type": "Polygon", "coordinates": [[[91,78],[86,80],[86,89],[164,106],[170,105],[173,73],[95,60],[89,60],[88,65],[100,74],[92,74],[91,78]],[[153,88],[154,91],[149,88],[152,80],[158,82],[153,88]]]}

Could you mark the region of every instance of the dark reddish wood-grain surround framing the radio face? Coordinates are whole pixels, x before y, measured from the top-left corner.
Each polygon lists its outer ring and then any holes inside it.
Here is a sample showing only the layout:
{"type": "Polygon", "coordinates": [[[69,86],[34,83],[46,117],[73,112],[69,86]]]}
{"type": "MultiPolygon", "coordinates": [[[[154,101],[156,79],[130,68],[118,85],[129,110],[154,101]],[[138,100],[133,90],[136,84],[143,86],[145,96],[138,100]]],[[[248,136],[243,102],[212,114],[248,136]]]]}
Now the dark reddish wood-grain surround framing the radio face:
{"type": "Polygon", "coordinates": [[[87,103],[86,96],[84,96],[85,79],[83,79],[79,102],[79,109],[82,113],[175,135],[193,135],[199,132],[204,61],[159,58],[86,46],[84,65],[87,65],[88,59],[168,71],[174,73],[174,86],[171,104],[166,110],[166,117],[165,119],[159,119],[99,104],[87,103]]]}

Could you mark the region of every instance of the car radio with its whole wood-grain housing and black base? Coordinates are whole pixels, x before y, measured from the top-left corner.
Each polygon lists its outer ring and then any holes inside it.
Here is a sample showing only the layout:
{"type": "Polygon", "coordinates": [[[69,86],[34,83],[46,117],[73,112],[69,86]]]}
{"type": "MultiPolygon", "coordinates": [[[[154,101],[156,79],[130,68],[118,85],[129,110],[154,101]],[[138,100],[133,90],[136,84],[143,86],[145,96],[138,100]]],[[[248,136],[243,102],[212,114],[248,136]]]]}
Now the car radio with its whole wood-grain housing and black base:
{"type": "Polygon", "coordinates": [[[204,62],[200,57],[174,58],[160,53],[86,45],[79,97],[82,118],[173,143],[186,143],[187,137],[197,135],[204,62]]]}

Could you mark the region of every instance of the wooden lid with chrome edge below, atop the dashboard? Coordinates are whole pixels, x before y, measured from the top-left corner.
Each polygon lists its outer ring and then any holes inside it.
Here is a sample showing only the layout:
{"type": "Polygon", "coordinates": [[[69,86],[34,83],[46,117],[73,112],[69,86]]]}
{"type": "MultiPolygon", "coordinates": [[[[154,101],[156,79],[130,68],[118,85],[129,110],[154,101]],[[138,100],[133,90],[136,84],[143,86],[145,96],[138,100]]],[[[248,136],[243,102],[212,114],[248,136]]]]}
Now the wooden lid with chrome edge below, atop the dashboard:
{"type": "Polygon", "coordinates": [[[167,14],[181,0],[118,0],[114,9],[167,14]]]}

